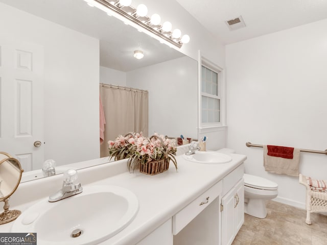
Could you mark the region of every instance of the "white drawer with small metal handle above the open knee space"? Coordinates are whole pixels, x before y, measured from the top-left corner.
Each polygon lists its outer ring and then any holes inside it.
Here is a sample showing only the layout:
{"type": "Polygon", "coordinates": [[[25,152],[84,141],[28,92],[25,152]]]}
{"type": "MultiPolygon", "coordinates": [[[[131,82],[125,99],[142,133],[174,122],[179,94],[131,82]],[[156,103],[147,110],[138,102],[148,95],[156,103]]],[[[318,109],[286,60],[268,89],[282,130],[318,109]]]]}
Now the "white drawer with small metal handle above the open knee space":
{"type": "MultiPolygon", "coordinates": [[[[222,181],[203,192],[197,199],[173,216],[173,235],[180,232],[203,209],[211,204],[222,192],[222,181]]],[[[219,208],[219,207],[217,207],[219,208]]]]}

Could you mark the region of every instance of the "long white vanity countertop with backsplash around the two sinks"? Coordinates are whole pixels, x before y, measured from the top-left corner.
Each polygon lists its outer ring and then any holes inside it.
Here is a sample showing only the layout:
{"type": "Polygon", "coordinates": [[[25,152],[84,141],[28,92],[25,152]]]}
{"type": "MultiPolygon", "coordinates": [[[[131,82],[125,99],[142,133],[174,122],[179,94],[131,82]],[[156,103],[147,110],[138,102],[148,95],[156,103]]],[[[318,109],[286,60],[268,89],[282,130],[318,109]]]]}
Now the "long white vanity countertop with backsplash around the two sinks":
{"type": "MultiPolygon", "coordinates": [[[[230,155],[232,161],[224,164],[193,163],[177,156],[178,172],[174,164],[170,164],[167,171],[155,176],[139,173],[138,170],[129,173],[126,160],[79,170],[82,186],[125,187],[134,192],[139,201],[134,220],[124,230],[100,244],[130,245],[146,237],[246,159],[244,155],[230,155]]],[[[61,185],[62,175],[21,183],[9,203],[10,209],[24,212],[38,200],[59,190],[61,185]]],[[[1,225],[0,232],[10,232],[12,223],[1,225]]]]}

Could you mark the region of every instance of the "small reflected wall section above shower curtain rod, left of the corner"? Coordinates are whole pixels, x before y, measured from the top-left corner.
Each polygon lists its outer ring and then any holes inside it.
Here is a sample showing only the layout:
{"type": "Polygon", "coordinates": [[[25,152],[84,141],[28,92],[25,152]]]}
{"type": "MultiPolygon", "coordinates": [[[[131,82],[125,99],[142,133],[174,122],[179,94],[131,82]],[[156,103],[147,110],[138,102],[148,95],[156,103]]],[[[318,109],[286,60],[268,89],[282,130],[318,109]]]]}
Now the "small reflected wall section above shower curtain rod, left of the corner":
{"type": "Polygon", "coordinates": [[[126,86],[126,72],[100,66],[100,83],[126,86]]]}

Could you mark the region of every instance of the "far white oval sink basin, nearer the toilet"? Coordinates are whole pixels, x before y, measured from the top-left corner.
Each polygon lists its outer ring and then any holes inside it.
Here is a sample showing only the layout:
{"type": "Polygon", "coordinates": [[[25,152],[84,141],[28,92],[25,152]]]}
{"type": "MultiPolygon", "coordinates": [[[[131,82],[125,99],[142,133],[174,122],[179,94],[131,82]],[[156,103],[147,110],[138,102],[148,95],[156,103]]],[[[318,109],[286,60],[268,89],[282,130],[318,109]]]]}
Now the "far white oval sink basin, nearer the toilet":
{"type": "Polygon", "coordinates": [[[219,152],[201,152],[197,151],[192,155],[183,155],[184,158],[191,162],[203,163],[203,164],[219,164],[227,163],[232,160],[231,156],[228,156],[219,152]]]}

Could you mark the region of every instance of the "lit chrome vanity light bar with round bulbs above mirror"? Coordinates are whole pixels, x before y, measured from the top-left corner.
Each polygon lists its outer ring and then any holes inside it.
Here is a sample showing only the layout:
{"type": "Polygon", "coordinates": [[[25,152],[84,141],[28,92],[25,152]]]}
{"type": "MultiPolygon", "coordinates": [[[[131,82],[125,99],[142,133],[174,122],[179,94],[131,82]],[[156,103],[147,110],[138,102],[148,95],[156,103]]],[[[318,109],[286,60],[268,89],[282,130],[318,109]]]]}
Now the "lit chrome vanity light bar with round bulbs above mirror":
{"type": "Polygon", "coordinates": [[[140,4],[135,9],[131,6],[131,0],[84,0],[88,4],[96,6],[97,8],[111,13],[122,21],[127,20],[131,26],[140,30],[140,28],[148,35],[155,37],[160,42],[171,46],[171,44],[180,48],[184,43],[190,41],[189,35],[181,36],[179,29],[172,30],[172,24],[169,21],[160,24],[161,18],[158,14],[152,14],[148,17],[148,8],[144,4],[140,4]],[[145,30],[144,30],[145,29],[145,30]]]}

